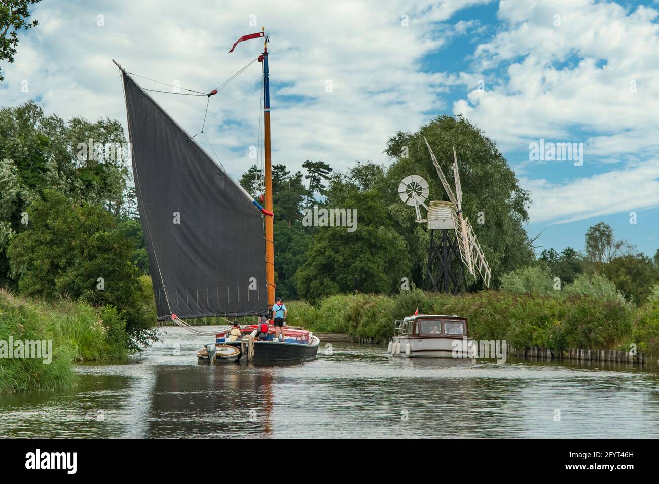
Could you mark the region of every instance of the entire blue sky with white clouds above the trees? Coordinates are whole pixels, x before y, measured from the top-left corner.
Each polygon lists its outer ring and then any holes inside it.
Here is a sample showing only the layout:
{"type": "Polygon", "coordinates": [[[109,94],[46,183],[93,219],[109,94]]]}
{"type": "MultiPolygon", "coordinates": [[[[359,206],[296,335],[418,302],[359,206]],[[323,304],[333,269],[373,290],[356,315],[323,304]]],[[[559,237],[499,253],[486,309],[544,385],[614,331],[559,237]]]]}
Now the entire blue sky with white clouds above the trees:
{"type": "MultiPolygon", "coordinates": [[[[231,44],[265,25],[275,163],[292,171],[306,159],[337,170],[358,159],[388,163],[389,136],[462,113],[531,192],[528,230],[544,230],[538,244],[583,250],[587,228],[605,221],[652,255],[659,248],[658,10],[652,0],[245,0],[185,9],[169,0],[42,0],[33,9],[40,25],[21,35],[16,62],[3,63],[0,105],[38,99],[65,119],[125,122],[110,59],[210,91],[262,47],[252,40],[229,55],[231,44]],[[583,165],[530,160],[529,144],[541,138],[583,143],[583,165]]],[[[255,161],[248,153],[257,143],[259,73],[255,63],[212,98],[206,121],[236,177],[255,161]]],[[[154,98],[198,132],[206,99],[154,98]]]]}

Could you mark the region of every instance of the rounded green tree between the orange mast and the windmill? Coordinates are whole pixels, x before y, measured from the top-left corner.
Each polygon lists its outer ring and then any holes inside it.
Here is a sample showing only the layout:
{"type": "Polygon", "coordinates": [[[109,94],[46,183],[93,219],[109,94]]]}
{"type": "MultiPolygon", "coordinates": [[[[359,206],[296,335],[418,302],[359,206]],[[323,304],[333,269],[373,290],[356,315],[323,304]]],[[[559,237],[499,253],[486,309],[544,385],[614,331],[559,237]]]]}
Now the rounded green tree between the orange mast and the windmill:
{"type": "Polygon", "coordinates": [[[357,209],[357,228],[320,227],[306,262],[297,271],[297,290],[317,301],[339,292],[384,292],[399,289],[409,275],[409,257],[403,238],[395,232],[380,194],[354,193],[346,209],[357,209]]]}

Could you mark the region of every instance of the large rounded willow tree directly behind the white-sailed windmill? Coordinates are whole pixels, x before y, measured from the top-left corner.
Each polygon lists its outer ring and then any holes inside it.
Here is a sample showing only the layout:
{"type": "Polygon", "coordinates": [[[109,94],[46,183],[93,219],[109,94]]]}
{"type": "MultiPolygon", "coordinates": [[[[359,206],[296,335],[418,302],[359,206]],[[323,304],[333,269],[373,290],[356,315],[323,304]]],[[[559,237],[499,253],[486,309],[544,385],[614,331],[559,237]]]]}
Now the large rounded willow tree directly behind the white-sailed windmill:
{"type": "MultiPolygon", "coordinates": [[[[494,284],[498,284],[501,275],[529,264],[533,250],[523,227],[529,220],[529,192],[519,186],[515,173],[490,138],[467,119],[444,115],[415,133],[397,133],[385,150],[393,159],[387,171],[389,212],[410,247],[415,282],[424,282],[428,233],[423,225],[415,222],[413,208],[398,198],[398,185],[405,176],[419,175],[430,184],[430,200],[448,200],[424,137],[451,186],[455,183],[451,169],[455,147],[463,188],[463,211],[490,263],[494,284]]],[[[479,284],[482,283],[474,283],[471,288],[478,288],[479,284]]]]}

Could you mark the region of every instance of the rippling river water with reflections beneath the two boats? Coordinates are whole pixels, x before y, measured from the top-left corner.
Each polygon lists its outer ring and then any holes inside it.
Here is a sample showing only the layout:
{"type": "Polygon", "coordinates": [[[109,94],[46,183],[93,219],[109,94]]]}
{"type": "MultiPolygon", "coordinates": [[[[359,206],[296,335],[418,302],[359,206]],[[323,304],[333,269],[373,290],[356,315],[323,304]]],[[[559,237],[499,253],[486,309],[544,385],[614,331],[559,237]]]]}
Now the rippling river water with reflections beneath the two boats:
{"type": "Polygon", "coordinates": [[[7,437],[659,437],[659,379],[626,365],[391,358],[321,343],[314,362],[208,365],[178,327],[69,390],[0,396],[7,437]]]}

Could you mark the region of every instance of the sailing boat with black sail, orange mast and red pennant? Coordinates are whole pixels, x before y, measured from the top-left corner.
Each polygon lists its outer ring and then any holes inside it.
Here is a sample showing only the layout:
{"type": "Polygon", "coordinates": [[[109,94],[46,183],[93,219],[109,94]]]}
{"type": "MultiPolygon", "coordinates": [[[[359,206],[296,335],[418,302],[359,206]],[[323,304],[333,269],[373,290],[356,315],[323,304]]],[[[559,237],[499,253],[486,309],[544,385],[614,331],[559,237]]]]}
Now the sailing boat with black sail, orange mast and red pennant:
{"type": "MultiPolygon", "coordinates": [[[[132,76],[121,70],[128,118],[132,171],[154,282],[158,321],[171,320],[192,333],[214,336],[206,358],[239,348],[239,361],[307,361],[320,339],[302,328],[285,327],[285,339],[254,339],[256,325],[242,325],[229,342],[229,326],[205,331],[185,323],[204,317],[272,315],[275,302],[270,155],[268,38],[264,29],[234,44],[265,38],[258,57],[264,86],[264,207],[227,175],[132,76]],[[265,226],[265,236],[264,236],[265,226]],[[220,349],[215,352],[213,346],[220,349]]],[[[233,51],[233,49],[231,49],[233,51]]],[[[135,75],[135,74],[133,74],[135,75]]],[[[217,94],[214,90],[208,94],[217,94]]],[[[231,323],[227,319],[227,322],[231,323]]],[[[263,329],[263,328],[259,328],[263,329]]]]}

